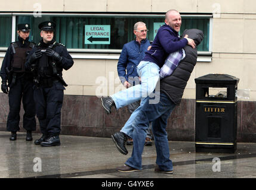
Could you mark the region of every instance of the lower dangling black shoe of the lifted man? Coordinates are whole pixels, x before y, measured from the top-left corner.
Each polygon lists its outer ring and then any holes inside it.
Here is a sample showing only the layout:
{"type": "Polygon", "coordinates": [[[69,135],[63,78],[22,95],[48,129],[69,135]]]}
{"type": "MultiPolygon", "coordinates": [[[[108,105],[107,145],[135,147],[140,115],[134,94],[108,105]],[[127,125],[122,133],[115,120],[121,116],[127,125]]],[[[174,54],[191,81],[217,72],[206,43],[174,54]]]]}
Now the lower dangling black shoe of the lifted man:
{"type": "Polygon", "coordinates": [[[127,135],[125,135],[124,132],[116,132],[115,134],[111,135],[111,138],[116,144],[118,151],[122,154],[127,155],[128,150],[125,147],[125,144],[127,142],[127,135]]]}

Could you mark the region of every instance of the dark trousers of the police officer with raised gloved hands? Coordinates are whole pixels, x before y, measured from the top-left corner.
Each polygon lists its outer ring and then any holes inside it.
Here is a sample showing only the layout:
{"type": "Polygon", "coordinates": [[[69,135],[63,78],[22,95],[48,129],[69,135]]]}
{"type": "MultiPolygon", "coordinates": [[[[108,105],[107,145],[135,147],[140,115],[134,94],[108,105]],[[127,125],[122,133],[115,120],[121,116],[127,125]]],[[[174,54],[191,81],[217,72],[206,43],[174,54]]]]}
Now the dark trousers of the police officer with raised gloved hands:
{"type": "Polygon", "coordinates": [[[61,131],[61,107],[65,88],[54,81],[52,87],[35,87],[36,116],[42,134],[59,135],[61,131]]]}

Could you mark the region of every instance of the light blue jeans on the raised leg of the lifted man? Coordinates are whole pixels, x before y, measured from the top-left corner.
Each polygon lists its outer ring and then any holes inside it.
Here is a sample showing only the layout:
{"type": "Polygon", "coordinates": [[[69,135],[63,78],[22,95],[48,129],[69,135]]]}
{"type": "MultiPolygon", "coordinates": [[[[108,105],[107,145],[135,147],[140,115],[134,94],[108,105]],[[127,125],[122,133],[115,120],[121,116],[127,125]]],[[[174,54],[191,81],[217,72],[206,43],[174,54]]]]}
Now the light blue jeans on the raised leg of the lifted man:
{"type": "Polygon", "coordinates": [[[127,106],[133,102],[146,98],[155,90],[159,80],[159,66],[148,61],[141,61],[137,66],[138,76],[141,84],[134,85],[118,93],[113,94],[116,109],[127,106]]]}

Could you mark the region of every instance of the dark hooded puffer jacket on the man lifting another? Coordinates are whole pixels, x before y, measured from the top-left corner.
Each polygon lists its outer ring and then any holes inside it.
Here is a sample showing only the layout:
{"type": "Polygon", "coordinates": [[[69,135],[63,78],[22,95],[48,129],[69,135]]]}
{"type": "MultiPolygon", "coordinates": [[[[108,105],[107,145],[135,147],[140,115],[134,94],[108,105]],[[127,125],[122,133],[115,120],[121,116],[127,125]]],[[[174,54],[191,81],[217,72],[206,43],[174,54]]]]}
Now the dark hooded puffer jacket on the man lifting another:
{"type": "MultiPolygon", "coordinates": [[[[186,34],[193,39],[198,46],[203,40],[203,32],[198,29],[184,30],[182,37],[186,34]]],[[[178,64],[177,68],[169,77],[163,78],[160,82],[160,91],[166,93],[175,105],[179,105],[183,96],[184,88],[187,85],[190,74],[196,65],[198,50],[187,45],[184,47],[185,58],[178,64]]]]}

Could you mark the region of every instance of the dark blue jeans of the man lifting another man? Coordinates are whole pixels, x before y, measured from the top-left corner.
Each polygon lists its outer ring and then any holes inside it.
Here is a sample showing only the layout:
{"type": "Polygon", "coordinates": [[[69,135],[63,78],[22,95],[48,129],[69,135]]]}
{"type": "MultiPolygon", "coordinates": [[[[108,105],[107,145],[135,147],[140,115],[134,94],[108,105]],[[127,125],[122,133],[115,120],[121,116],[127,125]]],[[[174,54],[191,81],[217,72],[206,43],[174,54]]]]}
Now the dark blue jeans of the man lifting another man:
{"type": "MultiPolygon", "coordinates": [[[[156,96],[159,96],[159,93],[156,96]]],[[[131,157],[129,157],[125,164],[135,169],[142,169],[141,155],[146,138],[146,129],[149,128],[149,123],[153,122],[152,132],[155,138],[156,164],[158,164],[161,170],[169,171],[172,170],[172,161],[169,159],[169,144],[165,128],[167,119],[175,104],[165,93],[160,94],[158,104],[150,104],[150,99],[152,97],[147,97],[143,100],[143,103],[134,112],[138,112],[137,117],[133,121],[129,121],[129,125],[132,127],[133,149],[131,157]]]]}

